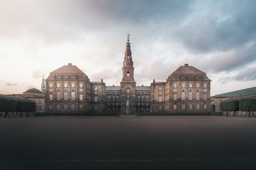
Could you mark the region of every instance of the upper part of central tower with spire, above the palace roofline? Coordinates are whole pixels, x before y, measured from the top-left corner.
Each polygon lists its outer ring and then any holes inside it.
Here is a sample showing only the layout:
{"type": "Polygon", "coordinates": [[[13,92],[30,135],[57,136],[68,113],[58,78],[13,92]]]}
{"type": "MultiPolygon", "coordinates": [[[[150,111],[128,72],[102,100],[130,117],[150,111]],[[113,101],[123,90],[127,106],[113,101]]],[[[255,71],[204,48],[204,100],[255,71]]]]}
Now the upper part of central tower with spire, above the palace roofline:
{"type": "Polygon", "coordinates": [[[132,52],[129,40],[129,34],[127,34],[127,43],[125,49],[125,56],[123,62],[123,78],[122,81],[134,81],[134,67],[132,62],[132,52]]]}

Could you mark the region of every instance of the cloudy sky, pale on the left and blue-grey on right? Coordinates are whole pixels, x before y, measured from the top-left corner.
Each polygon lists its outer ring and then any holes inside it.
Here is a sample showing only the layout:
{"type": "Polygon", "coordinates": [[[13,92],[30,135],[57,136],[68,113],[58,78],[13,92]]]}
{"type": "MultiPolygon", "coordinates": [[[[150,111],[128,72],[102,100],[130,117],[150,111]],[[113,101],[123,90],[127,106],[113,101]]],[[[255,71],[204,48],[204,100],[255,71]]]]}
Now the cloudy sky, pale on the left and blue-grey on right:
{"type": "Polygon", "coordinates": [[[211,96],[256,85],[256,1],[0,0],[0,94],[40,89],[72,63],[120,85],[127,32],[137,85],[188,63],[211,96]]]}

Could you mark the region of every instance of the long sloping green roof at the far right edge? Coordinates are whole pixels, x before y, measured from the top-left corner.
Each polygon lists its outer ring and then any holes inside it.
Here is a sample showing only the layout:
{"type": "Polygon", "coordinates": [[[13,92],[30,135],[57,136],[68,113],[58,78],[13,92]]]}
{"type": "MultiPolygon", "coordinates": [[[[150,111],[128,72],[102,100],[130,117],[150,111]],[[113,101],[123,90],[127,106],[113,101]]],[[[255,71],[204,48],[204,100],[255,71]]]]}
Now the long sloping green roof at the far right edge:
{"type": "Polygon", "coordinates": [[[242,89],[242,90],[236,90],[234,92],[218,94],[218,95],[215,95],[214,97],[239,97],[240,95],[248,96],[248,95],[253,95],[253,94],[256,94],[256,87],[251,87],[251,88],[242,89]]]}

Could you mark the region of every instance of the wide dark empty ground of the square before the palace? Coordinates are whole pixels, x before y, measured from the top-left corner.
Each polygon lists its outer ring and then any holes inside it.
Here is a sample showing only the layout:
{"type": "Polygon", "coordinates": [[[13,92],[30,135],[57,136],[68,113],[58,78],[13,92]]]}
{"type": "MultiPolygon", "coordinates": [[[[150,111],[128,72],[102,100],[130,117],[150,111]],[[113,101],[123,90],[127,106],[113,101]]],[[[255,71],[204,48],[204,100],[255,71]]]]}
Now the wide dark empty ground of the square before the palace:
{"type": "Polygon", "coordinates": [[[0,118],[0,169],[256,169],[256,118],[0,118]]]}

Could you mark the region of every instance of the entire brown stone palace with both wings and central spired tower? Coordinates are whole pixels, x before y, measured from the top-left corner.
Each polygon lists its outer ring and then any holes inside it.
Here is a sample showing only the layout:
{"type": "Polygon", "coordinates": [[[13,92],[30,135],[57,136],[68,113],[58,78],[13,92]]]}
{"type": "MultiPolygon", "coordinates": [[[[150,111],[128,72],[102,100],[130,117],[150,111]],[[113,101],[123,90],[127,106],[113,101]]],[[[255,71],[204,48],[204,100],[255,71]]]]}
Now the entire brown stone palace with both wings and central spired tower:
{"type": "Polygon", "coordinates": [[[47,112],[208,112],[211,110],[211,80],[193,66],[180,66],[166,81],[136,86],[129,34],[125,48],[120,86],[90,81],[72,64],[52,71],[45,79],[47,112]]]}

